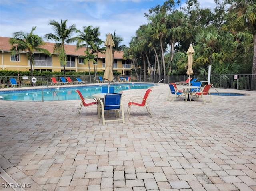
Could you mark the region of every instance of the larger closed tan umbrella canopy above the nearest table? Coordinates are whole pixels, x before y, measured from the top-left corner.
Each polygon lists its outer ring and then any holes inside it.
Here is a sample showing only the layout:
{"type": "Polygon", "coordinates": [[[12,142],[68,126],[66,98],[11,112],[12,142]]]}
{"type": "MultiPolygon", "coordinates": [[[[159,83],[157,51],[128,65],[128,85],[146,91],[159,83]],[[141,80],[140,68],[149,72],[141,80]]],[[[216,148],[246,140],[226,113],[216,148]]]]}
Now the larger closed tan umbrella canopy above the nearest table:
{"type": "Polygon", "coordinates": [[[112,47],[115,45],[114,41],[112,39],[112,35],[108,33],[106,41],[104,45],[107,47],[106,48],[106,57],[105,57],[105,65],[106,65],[106,70],[104,73],[103,78],[111,81],[114,79],[113,75],[113,53],[112,53],[112,47]]]}

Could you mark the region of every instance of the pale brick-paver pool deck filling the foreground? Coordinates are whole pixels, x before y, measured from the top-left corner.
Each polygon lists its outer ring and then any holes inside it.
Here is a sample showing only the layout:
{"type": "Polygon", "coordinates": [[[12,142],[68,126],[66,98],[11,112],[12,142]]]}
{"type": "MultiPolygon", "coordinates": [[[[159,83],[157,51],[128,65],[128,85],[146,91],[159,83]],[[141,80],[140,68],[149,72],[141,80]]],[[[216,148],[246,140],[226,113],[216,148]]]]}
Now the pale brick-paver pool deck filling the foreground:
{"type": "MultiPolygon", "coordinates": [[[[153,118],[134,107],[124,124],[103,125],[96,106],[76,118],[79,100],[0,100],[1,176],[26,191],[256,191],[256,91],[204,104],[152,90],[153,118]]],[[[123,92],[125,112],[145,91],[123,92]]]]}

